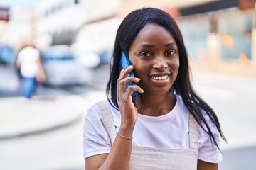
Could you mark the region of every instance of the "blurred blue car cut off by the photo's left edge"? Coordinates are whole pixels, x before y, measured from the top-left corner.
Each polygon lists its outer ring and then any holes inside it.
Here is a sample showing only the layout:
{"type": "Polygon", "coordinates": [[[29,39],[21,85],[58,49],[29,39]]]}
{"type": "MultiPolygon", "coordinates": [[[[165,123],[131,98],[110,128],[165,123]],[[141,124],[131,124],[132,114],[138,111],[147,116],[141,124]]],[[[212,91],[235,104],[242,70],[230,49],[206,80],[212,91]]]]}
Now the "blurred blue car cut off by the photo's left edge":
{"type": "Polygon", "coordinates": [[[0,62],[6,65],[12,65],[16,62],[17,53],[14,48],[7,45],[0,46],[0,62]]]}

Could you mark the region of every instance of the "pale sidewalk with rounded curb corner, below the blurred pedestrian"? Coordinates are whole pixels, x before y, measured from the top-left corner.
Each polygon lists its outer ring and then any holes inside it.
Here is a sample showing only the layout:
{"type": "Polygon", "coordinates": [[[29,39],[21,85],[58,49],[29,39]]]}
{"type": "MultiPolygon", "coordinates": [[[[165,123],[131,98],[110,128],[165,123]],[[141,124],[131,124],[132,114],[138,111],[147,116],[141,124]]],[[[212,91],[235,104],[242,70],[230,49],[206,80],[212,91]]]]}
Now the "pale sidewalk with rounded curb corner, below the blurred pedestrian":
{"type": "Polygon", "coordinates": [[[0,140],[47,132],[75,123],[85,113],[80,96],[0,98],[0,140]]]}

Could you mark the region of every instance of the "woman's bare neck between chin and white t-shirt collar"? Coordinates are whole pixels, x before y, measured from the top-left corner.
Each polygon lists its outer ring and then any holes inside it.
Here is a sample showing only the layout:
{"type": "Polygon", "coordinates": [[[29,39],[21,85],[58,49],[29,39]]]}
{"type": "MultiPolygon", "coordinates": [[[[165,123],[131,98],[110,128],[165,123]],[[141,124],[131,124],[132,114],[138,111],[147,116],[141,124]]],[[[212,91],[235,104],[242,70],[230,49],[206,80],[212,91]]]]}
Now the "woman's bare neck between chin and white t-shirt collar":
{"type": "Polygon", "coordinates": [[[137,96],[136,106],[142,115],[159,116],[169,113],[174,108],[176,98],[167,92],[166,94],[141,94],[137,96]]]}

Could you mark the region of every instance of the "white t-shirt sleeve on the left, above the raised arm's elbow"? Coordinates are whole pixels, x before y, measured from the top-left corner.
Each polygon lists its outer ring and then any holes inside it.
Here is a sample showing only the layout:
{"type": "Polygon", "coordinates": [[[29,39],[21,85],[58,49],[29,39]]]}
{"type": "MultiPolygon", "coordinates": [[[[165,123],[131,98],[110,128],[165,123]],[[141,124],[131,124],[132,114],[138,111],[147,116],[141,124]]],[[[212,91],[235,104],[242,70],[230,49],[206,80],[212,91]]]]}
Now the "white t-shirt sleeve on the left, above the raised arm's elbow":
{"type": "Polygon", "coordinates": [[[85,117],[83,127],[83,156],[91,157],[110,152],[110,139],[102,124],[100,109],[93,105],[85,117]]]}

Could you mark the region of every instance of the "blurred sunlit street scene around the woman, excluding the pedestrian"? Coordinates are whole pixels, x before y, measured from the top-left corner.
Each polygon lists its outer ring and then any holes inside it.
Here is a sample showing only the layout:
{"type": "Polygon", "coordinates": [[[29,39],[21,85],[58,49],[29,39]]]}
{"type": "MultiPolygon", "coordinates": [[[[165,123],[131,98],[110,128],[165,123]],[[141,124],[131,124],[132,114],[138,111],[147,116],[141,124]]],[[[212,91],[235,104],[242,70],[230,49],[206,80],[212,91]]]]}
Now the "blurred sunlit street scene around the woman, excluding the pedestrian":
{"type": "Polygon", "coordinates": [[[87,108],[105,100],[115,33],[144,6],[173,16],[193,86],[220,119],[220,170],[256,170],[256,0],[0,0],[0,169],[84,169],[87,108]],[[18,52],[41,52],[46,81],[22,97],[18,52]]]}

